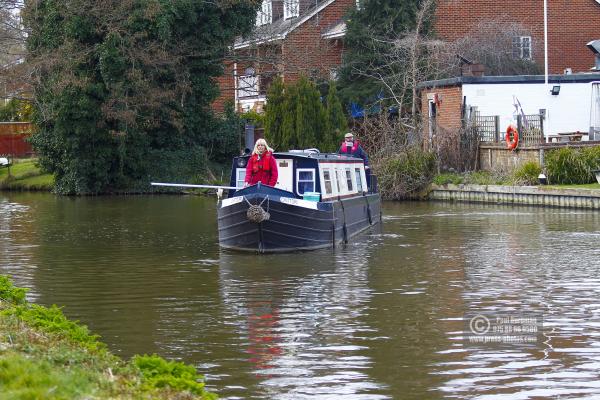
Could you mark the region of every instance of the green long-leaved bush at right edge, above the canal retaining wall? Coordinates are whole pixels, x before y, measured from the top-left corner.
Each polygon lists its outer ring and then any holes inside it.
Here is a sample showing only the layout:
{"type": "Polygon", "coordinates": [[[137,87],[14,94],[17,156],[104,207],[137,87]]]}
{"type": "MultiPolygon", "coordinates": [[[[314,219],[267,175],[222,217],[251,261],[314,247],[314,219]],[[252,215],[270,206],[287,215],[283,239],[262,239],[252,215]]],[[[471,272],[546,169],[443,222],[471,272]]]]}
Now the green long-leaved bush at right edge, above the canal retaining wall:
{"type": "Polygon", "coordinates": [[[585,184],[595,182],[592,170],[598,161],[598,146],[576,150],[572,147],[550,150],[545,155],[548,180],[553,184],[585,184]]]}

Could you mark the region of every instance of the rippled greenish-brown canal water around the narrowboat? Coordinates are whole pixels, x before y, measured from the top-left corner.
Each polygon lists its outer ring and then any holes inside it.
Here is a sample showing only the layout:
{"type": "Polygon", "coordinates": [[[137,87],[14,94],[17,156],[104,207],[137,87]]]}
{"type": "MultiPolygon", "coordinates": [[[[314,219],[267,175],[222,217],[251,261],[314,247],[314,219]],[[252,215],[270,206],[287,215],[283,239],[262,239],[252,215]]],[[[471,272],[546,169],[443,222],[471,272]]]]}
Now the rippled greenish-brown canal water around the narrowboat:
{"type": "Polygon", "coordinates": [[[347,246],[261,256],[219,250],[215,214],[197,196],[0,193],[0,272],[226,399],[600,397],[597,212],[386,203],[347,246]],[[471,342],[472,313],[543,326],[471,342]]]}

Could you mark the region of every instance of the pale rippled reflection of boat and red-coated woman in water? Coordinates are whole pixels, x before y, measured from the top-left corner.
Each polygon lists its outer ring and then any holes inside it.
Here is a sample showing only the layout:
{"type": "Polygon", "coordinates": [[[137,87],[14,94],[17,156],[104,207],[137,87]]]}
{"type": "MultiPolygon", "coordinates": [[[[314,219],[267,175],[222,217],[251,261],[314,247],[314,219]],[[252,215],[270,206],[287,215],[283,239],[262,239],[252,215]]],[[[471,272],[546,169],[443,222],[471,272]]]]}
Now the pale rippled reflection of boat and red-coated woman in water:
{"type": "Polygon", "coordinates": [[[319,260],[313,265],[294,261],[298,254],[257,259],[222,251],[223,315],[240,337],[248,370],[239,378],[249,381],[244,386],[253,396],[389,398],[368,375],[371,233],[333,252],[312,253],[319,260]]]}

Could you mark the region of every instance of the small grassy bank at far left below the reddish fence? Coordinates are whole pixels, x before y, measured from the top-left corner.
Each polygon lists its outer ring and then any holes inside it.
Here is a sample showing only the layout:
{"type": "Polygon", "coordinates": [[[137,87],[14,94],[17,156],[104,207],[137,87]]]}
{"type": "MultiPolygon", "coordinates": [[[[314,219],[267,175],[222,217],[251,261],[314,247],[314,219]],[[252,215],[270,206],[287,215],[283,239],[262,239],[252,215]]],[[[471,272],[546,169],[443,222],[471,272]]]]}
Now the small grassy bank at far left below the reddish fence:
{"type": "Polygon", "coordinates": [[[52,190],[54,177],[51,174],[43,173],[36,161],[35,158],[14,160],[10,168],[0,168],[0,189],[52,190]]]}

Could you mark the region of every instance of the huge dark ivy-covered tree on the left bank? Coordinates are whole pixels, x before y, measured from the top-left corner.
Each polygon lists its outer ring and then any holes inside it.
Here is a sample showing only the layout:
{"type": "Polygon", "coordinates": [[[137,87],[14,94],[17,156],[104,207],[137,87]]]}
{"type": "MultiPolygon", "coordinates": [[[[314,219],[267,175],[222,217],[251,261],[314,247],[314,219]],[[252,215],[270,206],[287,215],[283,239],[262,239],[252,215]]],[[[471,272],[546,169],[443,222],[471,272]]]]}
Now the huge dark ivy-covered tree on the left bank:
{"type": "Polygon", "coordinates": [[[222,59],[251,29],[251,0],[32,0],[29,30],[39,133],[32,143],[61,193],[147,181],[157,151],[222,156],[210,104],[222,59]],[[216,151],[215,149],[219,149],[216,151]]]}

